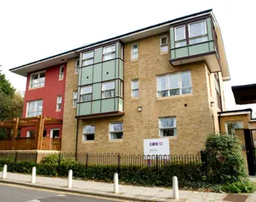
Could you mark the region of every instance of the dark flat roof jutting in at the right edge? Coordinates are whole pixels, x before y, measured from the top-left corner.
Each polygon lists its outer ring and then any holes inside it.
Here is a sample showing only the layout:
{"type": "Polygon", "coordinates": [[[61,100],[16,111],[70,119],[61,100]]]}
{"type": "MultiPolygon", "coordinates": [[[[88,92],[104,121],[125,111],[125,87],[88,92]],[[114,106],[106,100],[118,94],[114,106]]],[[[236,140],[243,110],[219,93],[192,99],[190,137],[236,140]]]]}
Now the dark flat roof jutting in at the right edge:
{"type": "Polygon", "coordinates": [[[256,83],[232,86],[232,91],[237,104],[256,103],[256,83]]]}

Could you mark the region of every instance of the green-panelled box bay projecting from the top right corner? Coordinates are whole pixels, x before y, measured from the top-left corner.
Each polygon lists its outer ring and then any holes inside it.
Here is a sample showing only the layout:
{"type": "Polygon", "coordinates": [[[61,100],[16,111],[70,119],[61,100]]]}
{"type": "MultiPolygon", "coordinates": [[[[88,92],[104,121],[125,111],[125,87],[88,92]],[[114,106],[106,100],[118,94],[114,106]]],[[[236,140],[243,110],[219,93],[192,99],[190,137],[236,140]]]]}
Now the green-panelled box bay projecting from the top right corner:
{"type": "Polygon", "coordinates": [[[210,16],[170,27],[173,66],[206,61],[211,72],[221,71],[218,37],[210,16]]]}

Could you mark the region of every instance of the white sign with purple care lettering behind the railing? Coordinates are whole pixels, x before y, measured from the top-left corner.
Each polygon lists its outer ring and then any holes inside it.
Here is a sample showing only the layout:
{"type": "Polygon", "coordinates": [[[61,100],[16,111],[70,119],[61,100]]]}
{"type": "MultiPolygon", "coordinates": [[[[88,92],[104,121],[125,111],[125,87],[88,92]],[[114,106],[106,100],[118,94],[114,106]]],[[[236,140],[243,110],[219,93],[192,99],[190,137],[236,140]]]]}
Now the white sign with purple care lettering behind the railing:
{"type": "Polygon", "coordinates": [[[144,139],[144,155],[169,155],[169,139],[144,139]]]}

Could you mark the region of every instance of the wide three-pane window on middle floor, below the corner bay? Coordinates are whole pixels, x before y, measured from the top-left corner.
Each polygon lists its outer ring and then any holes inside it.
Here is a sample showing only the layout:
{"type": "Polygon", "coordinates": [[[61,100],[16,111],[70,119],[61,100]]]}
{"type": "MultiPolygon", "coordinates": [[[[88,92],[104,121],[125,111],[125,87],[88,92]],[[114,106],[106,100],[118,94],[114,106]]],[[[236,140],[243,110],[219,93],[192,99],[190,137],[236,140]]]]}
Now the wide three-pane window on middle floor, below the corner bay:
{"type": "Polygon", "coordinates": [[[157,77],[158,97],[192,93],[190,71],[157,77]]]}

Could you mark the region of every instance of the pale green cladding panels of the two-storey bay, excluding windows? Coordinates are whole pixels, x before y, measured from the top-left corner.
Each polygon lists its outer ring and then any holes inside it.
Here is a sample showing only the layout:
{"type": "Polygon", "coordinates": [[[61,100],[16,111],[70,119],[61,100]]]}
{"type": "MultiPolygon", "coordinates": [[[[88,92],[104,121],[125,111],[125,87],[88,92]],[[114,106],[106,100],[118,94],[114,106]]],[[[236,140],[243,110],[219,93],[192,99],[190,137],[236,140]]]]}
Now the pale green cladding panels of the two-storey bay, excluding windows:
{"type": "MultiPolygon", "coordinates": [[[[122,82],[123,82],[123,58],[122,44],[116,42],[109,44],[115,46],[115,57],[103,61],[104,47],[87,51],[94,52],[93,64],[83,66],[80,62],[78,98],[80,98],[81,87],[92,86],[92,100],[78,102],[77,116],[89,116],[107,112],[123,112],[122,82]],[[103,82],[114,82],[115,95],[111,98],[102,98],[101,90],[103,82]]],[[[80,61],[83,54],[80,55],[80,61]]]]}

